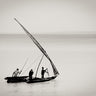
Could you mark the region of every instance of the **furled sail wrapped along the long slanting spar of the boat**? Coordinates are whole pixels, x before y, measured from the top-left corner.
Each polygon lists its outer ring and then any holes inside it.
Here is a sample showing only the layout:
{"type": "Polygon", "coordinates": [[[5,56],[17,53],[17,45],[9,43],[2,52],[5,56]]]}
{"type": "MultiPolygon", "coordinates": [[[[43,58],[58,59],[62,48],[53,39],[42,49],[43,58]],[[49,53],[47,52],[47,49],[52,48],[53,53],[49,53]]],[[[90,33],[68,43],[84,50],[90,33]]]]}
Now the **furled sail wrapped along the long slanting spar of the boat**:
{"type": "Polygon", "coordinates": [[[52,65],[54,75],[57,76],[59,74],[59,72],[58,72],[57,68],[55,67],[54,63],[52,62],[52,60],[50,59],[50,57],[48,56],[47,52],[44,50],[44,48],[39,44],[39,42],[33,37],[33,35],[30,34],[28,32],[28,30],[16,18],[14,18],[14,19],[24,29],[26,34],[32,39],[32,41],[40,49],[40,51],[47,57],[47,59],[50,61],[51,65],[52,65]]]}

